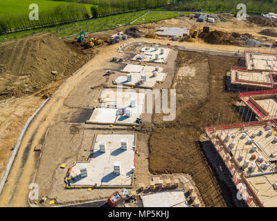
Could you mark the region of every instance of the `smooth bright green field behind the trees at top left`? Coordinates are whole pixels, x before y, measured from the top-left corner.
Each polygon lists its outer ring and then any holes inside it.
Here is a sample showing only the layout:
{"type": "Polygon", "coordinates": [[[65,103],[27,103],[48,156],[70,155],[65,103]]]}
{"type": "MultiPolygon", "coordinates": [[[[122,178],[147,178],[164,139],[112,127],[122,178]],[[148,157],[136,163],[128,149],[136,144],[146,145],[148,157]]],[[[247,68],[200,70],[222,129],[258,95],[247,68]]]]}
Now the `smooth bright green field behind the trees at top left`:
{"type": "MultiPolygon", "coordinates": [[[[28,15],[29,5],[31,3],[36,3],[39,6],[39,11],[51,10],[55,6],[66,5],[66,4],[75,4],[64,1],[50,1],[50,0],[0,0],[0,17],[1,15],[28,15]]],[[[79,3],[80,4],[80,3],[79,3]]],[[[91,5],[82,4],[87,8],[87,11],[90,15],[89,8],[91,5]]]]}

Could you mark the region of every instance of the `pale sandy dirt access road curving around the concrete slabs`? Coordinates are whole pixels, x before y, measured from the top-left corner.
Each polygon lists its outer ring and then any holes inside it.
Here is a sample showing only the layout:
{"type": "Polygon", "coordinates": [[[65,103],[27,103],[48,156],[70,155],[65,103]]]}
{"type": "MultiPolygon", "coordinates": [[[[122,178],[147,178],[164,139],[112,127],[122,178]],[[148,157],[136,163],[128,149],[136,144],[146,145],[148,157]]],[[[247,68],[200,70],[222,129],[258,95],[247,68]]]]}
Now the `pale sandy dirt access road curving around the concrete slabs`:
{"type": "MultiPolygon", "coordinates": [[[[138,41],[136,39],[129,39],[127,42],[138,41]]],[[[167,44],[169,41],[159,40],[159,39],[139,39],[140,42],[150,42],[153,44],[167,44]]],[[[213,50],[228,50],[233,51],[240,47],[233,46],[213,46],[207,44],[193,44],[193,43],[179,43],[171,42],[172,45],[177,46],[187,46],[195,48],[213,48],[213,50]]],[[[8,176],[8,185],[4,186],[3,192],[1,194],[0,205],[1,206],[28,206],[27,197],[28,197],[28,185],[32,182],[34,169],[38,162],[35,153],[33,152],[33,145],[38,144],[44,134],[46,129],[51,124],[55,123],[55,115],[64,105],[64,100],[68,97],[72,88],[75,84],[87,75],[90,74],[92,70],[98,70],[103,68],[102,61],[107,59],[107,57],[119,57],[120,55],[116,53],[117,45],[105,46],[101,48],[99,55],[89,61],[82,70],[80,70],[76,75],[69,77],[64,84],[58,88],[58,90],[53,94],[51,100],[44,106],[42,111],[35,117],[33,123],[28,128],[24,140],[21,143],[19,152],[17,153],[16,160],[10,175],[8,176]],[[97,61],[97,62],[96,62],[97,61]],[[28,177],[28,178],[26,178],[28,177]],[[20,187],[20,188],[19,188],[20,187]]]]}

